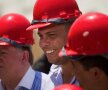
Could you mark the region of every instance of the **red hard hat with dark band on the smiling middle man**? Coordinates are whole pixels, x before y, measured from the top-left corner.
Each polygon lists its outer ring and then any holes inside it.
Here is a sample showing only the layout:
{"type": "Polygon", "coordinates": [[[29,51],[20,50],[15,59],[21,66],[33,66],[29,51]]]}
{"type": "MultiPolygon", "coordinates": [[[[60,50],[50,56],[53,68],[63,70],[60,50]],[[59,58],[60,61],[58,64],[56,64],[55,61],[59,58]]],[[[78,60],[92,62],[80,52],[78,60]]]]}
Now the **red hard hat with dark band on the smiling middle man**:
{"type": "Polygon", "coordinates": [[[81,12],[75,0],[37,0],[33,10],[32,25],[27,30],[33,30],[50,25],[54,22],[64,22],[80,16],[81,12]]]}

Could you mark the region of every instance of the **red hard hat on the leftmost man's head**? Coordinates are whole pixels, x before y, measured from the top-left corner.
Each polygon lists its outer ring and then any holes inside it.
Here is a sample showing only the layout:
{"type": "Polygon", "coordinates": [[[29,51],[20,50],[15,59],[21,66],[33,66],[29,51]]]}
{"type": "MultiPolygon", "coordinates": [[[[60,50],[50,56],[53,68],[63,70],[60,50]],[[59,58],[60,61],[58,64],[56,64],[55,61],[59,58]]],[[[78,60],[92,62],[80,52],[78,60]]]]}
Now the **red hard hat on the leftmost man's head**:
{"type": "Polygon", "coordinates": [[[28,26],[30,26],[30,22],[23,15],[9,13],[1,16],[0,45],[7,45],[12,42],[23,45],[33,44],[33,31],[26,31],[28,26]]]}

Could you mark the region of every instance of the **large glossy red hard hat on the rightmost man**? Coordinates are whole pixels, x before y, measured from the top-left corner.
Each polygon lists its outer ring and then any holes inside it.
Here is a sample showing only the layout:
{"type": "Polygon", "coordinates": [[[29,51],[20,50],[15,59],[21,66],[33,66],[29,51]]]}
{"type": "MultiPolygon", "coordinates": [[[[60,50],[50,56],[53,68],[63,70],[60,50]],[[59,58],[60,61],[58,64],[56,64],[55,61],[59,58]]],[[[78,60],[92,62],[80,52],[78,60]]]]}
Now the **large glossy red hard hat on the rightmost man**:
{"type": "MultiPolygon", "coordinates": [[[[99,12],[87,13],[71,26],[64,51],[68,56],[106,54],[107,40],[108,16],[99,12]]],[[[59,55],[64,56],[62,51],[59,55]]]]}

